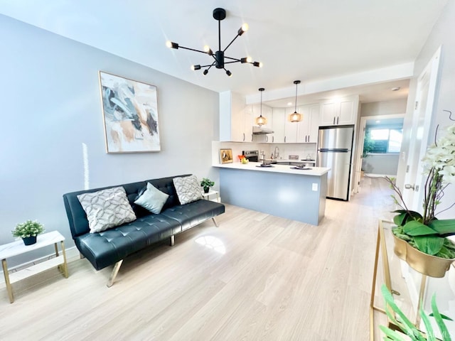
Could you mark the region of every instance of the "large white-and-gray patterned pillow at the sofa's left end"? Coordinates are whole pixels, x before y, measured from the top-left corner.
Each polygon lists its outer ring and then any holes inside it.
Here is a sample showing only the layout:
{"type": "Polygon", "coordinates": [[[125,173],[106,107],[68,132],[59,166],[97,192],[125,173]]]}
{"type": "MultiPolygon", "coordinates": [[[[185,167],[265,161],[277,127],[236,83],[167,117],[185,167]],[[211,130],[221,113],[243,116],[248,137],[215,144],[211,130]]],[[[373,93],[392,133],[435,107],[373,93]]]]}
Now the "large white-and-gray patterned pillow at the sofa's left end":
{"type": "Polygon", "coordinates": [[[80,194],[77,199],[87,214],[90,233],[102,232],[136,220],[123,187],[80,194]]]}

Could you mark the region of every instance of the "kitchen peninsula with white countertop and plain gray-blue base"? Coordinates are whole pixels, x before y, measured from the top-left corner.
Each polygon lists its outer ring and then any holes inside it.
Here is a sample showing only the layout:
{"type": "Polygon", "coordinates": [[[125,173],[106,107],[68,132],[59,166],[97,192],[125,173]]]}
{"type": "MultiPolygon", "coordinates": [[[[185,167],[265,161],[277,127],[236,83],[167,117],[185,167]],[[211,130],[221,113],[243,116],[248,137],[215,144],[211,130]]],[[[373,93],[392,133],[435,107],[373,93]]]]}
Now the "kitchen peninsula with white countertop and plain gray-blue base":
{"type": "Polygon", "coordinates": [[[330,168],[272,165],[259,162],[213,165],[220,169],[223,202],[299,222],[318,225],[326,210],[330,168]]]}

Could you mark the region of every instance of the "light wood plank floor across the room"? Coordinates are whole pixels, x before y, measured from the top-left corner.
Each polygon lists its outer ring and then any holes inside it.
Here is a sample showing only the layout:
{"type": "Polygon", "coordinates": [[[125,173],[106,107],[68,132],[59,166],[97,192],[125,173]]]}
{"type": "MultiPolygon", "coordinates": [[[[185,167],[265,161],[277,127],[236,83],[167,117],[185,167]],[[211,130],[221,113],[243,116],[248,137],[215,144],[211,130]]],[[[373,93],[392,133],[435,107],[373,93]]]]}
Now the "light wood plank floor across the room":
{"type": "Polygon", "coordinates": [[[126,259],[111,288],[112,268],[73,259],[68,279],[52,269],[16,283],[13,304],[0,289],[0,340],[369,340],[390,194],[363,178],[350,202],[327,200],[318,227],[227,205],[219,228],[126,259]]]}

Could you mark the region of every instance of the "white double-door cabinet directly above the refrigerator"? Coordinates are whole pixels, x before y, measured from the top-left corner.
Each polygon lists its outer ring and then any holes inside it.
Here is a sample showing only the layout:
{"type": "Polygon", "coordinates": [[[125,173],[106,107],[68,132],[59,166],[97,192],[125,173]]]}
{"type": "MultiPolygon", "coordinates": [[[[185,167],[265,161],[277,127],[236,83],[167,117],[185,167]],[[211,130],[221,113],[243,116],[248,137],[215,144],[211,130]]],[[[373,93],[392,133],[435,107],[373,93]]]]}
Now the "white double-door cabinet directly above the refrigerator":
{"type": "Polygon", "coordinates": [[[358,114],[358,96],[340,100],[328,100],[321,103],[320,126],[338,126],[355,124],[358,114]]]}

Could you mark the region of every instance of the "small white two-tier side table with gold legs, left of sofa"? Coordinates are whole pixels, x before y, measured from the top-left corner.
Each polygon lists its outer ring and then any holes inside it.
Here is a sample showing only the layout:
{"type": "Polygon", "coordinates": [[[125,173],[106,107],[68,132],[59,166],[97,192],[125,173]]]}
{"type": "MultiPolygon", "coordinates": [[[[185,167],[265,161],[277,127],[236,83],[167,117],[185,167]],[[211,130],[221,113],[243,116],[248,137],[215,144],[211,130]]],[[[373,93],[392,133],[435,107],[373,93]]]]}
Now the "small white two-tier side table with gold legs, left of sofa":
{"type": "Polygon", "coordinates": [[[25,245],[22,240],[17,240],[9,244],[0,245],[0,259],[1,266],[3,267],[3,274],[5,277],[6,291],[8,291],[9,302],[14,302],[13,288],[11,283],[21,281],[23,278],[38,274],[38,272],[48,270],[53,268],[53,266],[58,266],[60,272],[68,278],[68,264],[66,262],[65,254],[65,237],[60,234],[58,231],[38,234],[36,239],[36,244],[25,245]],[[58,254],[58,243],[60,242],[60,248],[62,250],[62,255],[58,254]],[[28,266],[28,268],[16,271],[12,274],[9,274],[8,265],[6,264],[6,259],[18,256],[19,254],[25,254],[28,251],[33,251],[36,249],[41,249],[42,247],[48,247],[49,245],[54,244],[55,247],[55,258],[48,259],[47,261],[42,261],[41,263],[35,264],[33,266],[28,266]]]}

